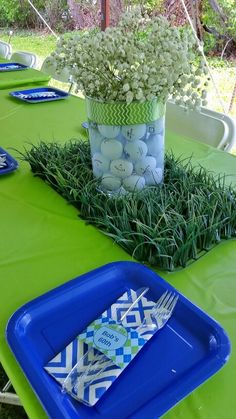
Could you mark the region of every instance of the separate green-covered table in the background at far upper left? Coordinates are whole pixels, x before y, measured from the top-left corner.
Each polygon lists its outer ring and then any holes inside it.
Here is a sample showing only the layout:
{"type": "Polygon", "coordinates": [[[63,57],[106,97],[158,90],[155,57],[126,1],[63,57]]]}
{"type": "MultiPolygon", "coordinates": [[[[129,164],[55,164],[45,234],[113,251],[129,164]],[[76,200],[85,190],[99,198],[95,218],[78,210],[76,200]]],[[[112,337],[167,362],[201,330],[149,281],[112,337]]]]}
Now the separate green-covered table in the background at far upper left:
{"type": "MultiPolygon", "coordinates": [[[[10,62],[13,61],[0,58],[0,63],[10,62]]],[[[0,90],[27,86],[29,84],[34,86],[39,84],[45,85],[48,84],[50,78],[48,74],[35,70],[34,68],[27,68],[26,70],[20,71],[4,71],[0,72],[0,90]]]]}

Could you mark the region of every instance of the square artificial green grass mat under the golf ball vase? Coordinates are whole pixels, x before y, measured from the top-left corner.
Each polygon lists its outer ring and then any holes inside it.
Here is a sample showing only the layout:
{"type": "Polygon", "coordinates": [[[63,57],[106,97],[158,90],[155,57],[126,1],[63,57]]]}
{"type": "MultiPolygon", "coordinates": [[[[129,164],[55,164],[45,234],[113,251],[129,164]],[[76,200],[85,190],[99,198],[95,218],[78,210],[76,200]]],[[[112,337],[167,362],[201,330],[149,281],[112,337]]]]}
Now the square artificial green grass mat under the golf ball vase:
{"type": "Polygon", "coordinates": [[[40,142],[22,158],[138,261],[172,271],[236,236],[236,190],[191,158],[167,154],[163,184],[117,196],[99,190],[88,142],[40,142]]]}

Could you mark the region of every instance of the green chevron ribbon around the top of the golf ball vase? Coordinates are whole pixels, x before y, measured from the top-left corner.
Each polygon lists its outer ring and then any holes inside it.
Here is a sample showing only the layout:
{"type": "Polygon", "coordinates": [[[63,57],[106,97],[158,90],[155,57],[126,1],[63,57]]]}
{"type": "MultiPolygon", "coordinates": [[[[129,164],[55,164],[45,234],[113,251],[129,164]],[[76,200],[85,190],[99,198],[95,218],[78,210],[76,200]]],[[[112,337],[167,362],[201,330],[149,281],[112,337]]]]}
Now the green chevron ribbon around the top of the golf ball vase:
{"type": "Polygon", "coordinates": [[[157,100],[144,103],[103,103],[86,98],[87,116],[102,125],[134,125],[156,121],[165,114],[165,104],[157,100]]]}

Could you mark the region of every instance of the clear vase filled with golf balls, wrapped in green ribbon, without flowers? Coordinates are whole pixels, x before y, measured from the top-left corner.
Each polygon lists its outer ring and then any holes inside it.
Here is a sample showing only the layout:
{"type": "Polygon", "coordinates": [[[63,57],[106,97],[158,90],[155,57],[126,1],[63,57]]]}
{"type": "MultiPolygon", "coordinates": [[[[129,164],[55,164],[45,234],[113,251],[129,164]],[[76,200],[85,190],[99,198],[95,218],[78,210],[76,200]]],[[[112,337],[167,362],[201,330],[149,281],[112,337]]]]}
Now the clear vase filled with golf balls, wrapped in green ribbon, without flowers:
{"type": "Polygon", "coordinates": [[[86,99],[93,174],[108,193],[158,185],[164,175],[165,104],[86,99]]]}

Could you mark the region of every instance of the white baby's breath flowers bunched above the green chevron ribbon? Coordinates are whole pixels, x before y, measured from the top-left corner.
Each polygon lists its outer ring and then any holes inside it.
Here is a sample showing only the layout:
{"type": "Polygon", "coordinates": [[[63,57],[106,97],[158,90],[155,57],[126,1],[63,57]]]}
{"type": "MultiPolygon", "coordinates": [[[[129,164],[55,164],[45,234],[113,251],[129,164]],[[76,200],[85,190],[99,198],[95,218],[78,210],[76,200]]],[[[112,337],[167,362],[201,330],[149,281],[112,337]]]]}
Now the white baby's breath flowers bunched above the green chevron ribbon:
{"type": "Polygon", "coordinates": [[[206,68],[196,56],[188,29],[135,11],[104,32],[61,38],[51,59],[58,71],[69,68],[77,90],[93,99],[131,103],[172,97],[191,109],[206,104],[201,80],[206,68]]]}

